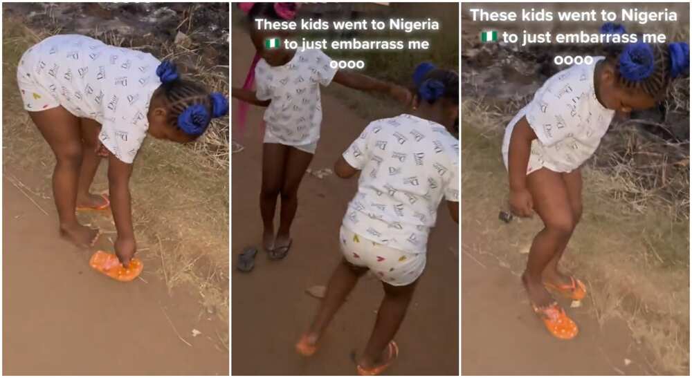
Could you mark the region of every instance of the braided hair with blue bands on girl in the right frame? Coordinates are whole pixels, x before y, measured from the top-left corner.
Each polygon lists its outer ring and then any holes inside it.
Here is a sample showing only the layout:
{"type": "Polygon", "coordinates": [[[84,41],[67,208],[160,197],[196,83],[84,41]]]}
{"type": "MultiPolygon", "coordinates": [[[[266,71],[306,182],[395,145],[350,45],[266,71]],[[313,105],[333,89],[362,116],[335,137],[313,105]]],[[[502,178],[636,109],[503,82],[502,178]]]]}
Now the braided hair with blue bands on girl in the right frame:
{"type": "MultiPolygon", "coordinates": [[[[625,28],[619,24],[605,23],[601,27],[603,34],[624,32],[625,28]]],[[[605,51],[616,68],[621,86],[642,91],[654,99],[665,94],[673,79],[689,75],[689,45],[685,42],[612,44],[605,51]]]]}

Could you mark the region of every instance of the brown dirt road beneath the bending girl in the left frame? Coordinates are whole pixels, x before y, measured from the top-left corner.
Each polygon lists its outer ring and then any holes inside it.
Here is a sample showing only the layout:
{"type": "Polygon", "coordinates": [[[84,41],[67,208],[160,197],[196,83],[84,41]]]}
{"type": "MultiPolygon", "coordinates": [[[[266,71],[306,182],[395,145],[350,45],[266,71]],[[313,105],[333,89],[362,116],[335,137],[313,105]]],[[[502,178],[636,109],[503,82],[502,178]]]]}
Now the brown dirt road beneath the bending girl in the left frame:
{"type": "MultiPolygon", "coordinates": [[[[13,184],[44,180],[3,172],[3,375],[228,375],[217,317],[202,315],[183,289],[169,296],[154,273],[158,256],[140,253],[146,282],[91,270],[90,252],[58,237],[52,200],[13,184]],[[193,328],[202,334],[192,337],[193,328]]],[[[107,247],[107,236],[97,246],[107,247]]]]}

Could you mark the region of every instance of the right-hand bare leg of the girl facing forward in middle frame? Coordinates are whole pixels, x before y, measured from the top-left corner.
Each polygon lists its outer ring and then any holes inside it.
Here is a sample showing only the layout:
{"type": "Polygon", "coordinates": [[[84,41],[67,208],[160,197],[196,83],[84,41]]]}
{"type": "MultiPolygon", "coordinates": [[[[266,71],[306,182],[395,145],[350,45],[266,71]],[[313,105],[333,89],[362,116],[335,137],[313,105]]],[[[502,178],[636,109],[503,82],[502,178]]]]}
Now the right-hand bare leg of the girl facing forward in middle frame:
{"type": "Polygon", "coordinates": [[[276,234],[275,247],[288,245],[291,240],[291,224],[295,218],[295,211],[298,210],[298,187],[313,156],[293,147],[289,149],[281,188],[281,222],[276,234]]]}

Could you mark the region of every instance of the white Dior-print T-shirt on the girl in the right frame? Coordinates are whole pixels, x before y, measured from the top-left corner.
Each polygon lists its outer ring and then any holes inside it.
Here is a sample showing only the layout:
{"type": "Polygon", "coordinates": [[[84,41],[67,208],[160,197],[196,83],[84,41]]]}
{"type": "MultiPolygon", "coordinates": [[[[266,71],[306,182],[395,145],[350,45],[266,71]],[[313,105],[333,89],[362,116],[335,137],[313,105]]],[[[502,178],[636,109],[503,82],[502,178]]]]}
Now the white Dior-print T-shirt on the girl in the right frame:
{"type": "MultiPolygon", "coordinates": [[[[507,157],[516,122],[526,117],[538,139],[531,143],[531,160],[556,172],[570,172],[590,158],[608,131],[615,114],[596,97],[594,63],[575,65],[550,77],[534,99],[514,117],[504,135],[507,157]]],[[[507,159],[506,159],[507,160],[507,159]]],[[[529,167],[534,171],[540,167],[529,167]]]]}

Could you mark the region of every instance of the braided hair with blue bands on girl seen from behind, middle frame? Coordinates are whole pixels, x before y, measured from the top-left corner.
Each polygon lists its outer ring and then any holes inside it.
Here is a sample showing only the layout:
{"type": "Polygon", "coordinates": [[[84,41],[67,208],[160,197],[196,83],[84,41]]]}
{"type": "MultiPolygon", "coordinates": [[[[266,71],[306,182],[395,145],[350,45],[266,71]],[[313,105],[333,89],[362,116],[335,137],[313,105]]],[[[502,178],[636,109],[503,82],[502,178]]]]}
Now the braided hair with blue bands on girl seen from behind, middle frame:
{"type": "Polygon", "coordinates": [[[428,104],[434,104],[441,98],[459,104],[459,75],[454,71],[423,62],[413,71],[413,84],[418,96],[428,104]]]}

